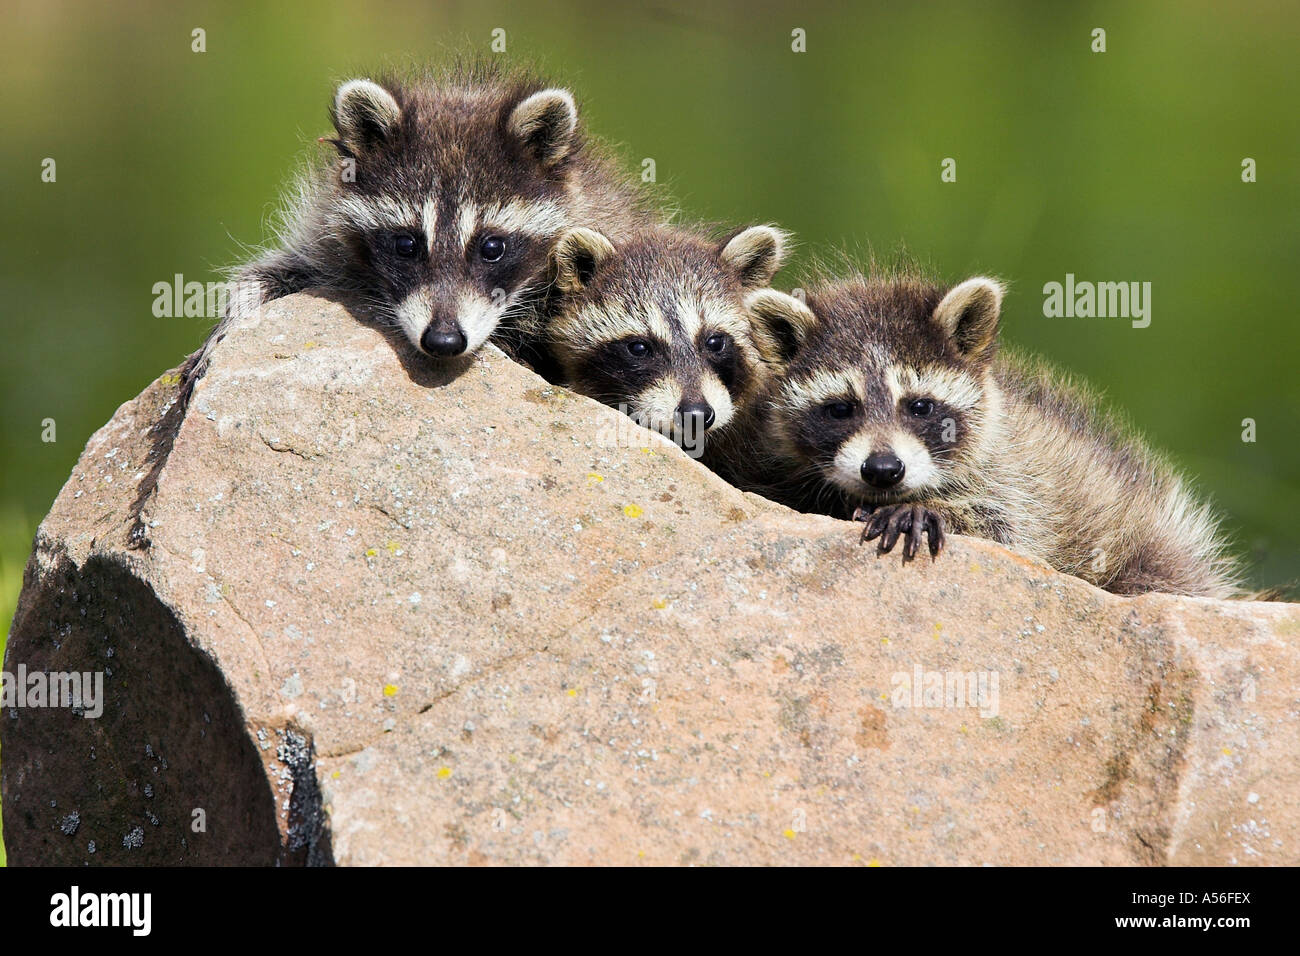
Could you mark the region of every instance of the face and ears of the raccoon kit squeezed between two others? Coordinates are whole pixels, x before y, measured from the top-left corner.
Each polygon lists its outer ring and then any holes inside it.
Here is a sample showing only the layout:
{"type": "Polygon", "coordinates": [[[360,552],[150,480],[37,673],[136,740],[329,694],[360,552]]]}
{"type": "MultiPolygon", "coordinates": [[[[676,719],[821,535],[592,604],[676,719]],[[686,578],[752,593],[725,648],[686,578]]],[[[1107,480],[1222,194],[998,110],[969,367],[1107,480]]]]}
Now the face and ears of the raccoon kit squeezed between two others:
{"type": "Polygon", "coordinates": [[[774,346],[746,299],[784,247],[772,226],[720,243],[653,229],[618,248],[573,229],[551,254],[547,347],[576,392],[702,451],[705,433],[725,428],[766,378],[774,346]]]}

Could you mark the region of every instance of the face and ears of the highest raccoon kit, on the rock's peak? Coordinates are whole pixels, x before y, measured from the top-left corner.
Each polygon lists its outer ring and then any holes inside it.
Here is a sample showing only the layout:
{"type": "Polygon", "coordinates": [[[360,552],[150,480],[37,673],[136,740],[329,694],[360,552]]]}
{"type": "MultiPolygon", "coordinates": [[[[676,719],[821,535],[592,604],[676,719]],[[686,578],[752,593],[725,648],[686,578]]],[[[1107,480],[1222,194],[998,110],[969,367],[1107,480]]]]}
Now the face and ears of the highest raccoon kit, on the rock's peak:
{"type": "Polygon", "coordinates": [[[421,351],[473,351],[523,304],[569,224],[577,109],[567,90],[339,87],[328,228],[355,282],[421,351]]]}

